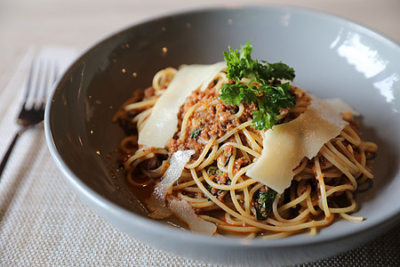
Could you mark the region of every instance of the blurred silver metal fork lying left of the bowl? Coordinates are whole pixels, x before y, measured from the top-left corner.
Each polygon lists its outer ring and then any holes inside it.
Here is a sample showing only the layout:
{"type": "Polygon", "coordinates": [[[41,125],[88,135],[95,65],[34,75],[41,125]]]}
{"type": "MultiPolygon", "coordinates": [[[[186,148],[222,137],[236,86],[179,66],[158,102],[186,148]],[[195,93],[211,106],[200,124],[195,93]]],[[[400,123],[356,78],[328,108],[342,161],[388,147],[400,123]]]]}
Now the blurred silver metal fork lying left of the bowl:
{"type": "Polygon", "coordinates": [[[8,150],[4,154],[4,158],[0,164],[0,179],[7,161],[10,158],[12,149],[20,138],[20,135],[25,133],[29,128],[43,122],[46,95],[49,88],[54,84],[57,76],[58,64],[54,59],[39,57],[32,61],[24,101],[17,119],[20,130],[15,134],[8,150]]]}

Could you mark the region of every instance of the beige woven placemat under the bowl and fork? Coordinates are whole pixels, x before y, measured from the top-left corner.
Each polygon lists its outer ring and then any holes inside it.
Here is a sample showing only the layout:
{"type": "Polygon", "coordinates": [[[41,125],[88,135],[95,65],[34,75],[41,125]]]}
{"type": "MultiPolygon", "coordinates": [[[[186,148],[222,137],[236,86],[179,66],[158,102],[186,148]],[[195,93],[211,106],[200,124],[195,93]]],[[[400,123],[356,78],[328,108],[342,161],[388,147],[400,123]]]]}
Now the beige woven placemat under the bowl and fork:
{"type": "MultiPolygon", "coordinates": [[[[33,52],[0,91],[0,155],[33,52]]],[[[400,227],[346,254],[296,266],[400,266],[400,227]]],[[[148,247],[115,229],[79,198],[52,161],[43,127],[20,137],[0,182],[0,266],[218,266],[148,247]]],[[[266,263],[268,266],[268,263],[266,263]]]]}

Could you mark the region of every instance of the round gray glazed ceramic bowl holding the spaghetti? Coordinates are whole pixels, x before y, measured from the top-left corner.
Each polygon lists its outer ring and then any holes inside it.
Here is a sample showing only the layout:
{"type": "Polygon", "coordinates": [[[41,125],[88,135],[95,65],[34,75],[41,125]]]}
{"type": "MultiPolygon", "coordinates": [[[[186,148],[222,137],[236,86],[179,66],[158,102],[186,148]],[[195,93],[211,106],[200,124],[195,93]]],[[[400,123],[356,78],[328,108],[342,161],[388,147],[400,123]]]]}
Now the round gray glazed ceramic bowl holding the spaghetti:
{"type": "Polygon", "coordinates": [[[257,6],[185,12],[149,20],[94,44],[54,87],[45,114],[52,157],[77,194],[135,239],[206,262],[281,265],[335,255],[379,236],[400,215],[400,47],[348,20],[292,7],[257,6]],[[157,70],[222,60],[228,44],[252,39],[254,57],[296,69],[296,85],[340,97],[363,114],[364,139],[377,142],[372,190],[358,194],[362,223],[340,221],[286,239],[197,235],[149,220],[139,201],[110,174],[108,158],[124,136],[111,122],[132,90],[157,70]],[[134,74],[134,75],[133,75],[134,74]]]}

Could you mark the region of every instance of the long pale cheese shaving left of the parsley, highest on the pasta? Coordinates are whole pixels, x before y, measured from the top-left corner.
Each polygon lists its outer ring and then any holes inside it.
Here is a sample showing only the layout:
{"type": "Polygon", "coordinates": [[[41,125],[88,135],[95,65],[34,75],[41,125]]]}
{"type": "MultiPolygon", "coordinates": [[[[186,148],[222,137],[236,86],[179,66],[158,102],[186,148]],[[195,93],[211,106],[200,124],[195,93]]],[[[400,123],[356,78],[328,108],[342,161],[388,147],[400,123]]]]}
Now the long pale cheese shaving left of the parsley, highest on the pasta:
{"type": "Polygon", "coordinates": [[[138,143],[164,148],[177,131],[177,114],[188,95],[198,88],[204,91],[213,78],[225,68],[225,62],[212,65],[188,65],[181,68],[166,91],[156,101],[150,117],[140,131],[138,143]]]}

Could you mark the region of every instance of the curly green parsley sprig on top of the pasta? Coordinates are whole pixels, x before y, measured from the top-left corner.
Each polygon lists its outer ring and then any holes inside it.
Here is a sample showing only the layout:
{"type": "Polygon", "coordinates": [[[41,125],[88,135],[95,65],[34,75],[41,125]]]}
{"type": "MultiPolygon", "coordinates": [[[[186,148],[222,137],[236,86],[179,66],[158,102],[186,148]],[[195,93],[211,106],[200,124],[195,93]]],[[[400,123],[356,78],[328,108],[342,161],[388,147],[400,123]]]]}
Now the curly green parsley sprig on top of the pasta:
{"type": "Polygon", "coordinates": [[[252,111],[252,123],[255,129],[263,130],[276,125],[281,108],[292,108],[296,98],[289,89],[290,83],[276,83],[281,79],[292,80],[294,70],[282,62],[268,63],[252,60],[252,44],[241,46],[240,52],[228,46],[229,53],[224,52],[227,61],[227,77],[233,84],[221,87],[220,100],[238,105],[241,102],[257,104],[259,110],[252,111]],[[246,77],[249,82],[240,84],[246,77]],[[254,85],[256,83],[259,86],[254,85]]]}

